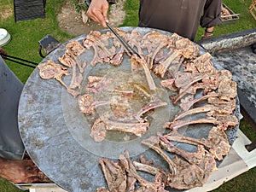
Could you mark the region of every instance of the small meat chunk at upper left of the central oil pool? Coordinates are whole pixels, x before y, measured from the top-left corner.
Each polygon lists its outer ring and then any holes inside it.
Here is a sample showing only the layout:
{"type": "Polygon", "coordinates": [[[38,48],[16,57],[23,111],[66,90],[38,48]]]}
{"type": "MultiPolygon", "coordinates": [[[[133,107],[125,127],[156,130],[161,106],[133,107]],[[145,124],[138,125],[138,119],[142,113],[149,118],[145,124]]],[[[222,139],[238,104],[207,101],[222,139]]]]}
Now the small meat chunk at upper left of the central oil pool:
{"type": "Polygon", "coordinates": [[[86,84],[86,89],[91,93],[98,93],[101,90],[108,89],[108,85],[112,84],[112,78],[98,77],[98,76],[88,76],[88,83],[86,84]]]}

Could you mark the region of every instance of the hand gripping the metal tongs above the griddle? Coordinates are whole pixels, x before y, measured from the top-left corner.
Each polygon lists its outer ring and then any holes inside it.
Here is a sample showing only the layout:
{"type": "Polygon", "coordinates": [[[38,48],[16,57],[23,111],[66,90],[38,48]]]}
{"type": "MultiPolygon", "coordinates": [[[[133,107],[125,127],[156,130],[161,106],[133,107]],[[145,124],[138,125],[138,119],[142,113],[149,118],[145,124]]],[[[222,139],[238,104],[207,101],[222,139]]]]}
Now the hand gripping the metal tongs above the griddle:
{"type": "Polygon", "coordinates": [[[108,22],[108,7],[107,0],[92,0],[86,15],[106,28],[106,22],[108,22]]]}

